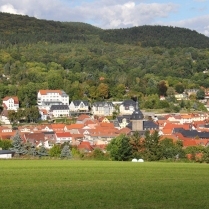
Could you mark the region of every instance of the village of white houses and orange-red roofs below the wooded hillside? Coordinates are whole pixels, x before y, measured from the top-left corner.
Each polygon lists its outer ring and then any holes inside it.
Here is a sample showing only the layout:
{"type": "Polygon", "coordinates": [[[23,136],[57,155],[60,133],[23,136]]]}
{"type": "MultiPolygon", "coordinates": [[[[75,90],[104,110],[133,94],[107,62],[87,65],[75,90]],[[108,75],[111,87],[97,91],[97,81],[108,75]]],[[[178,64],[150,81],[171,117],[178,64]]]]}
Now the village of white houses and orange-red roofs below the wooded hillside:
{"type": "Polygon", "coordinates": [[[43,123],[31,123],[12,127],[7,117],[8,111],[19,109],[16,96],[3,99],[0,139],[12,139],[17,133],[24,142],[44,146],[47,149],[65,142],[79,150],[91,152],[95,148],[105,150],[106,145],[120,134],[132,135],[139,132],[157,130],[161,139],[182,141],[183,148],[209,145],[208,113],[151,114],[143,113],[138,101],[95,102],[90,107],[88,101],[75,100],[69,103],[69,96],[62,90],[40,90],[37,104],[43,123]],[[110,116],[119,110],[113,119],[110,116]],[[76,115],[74,123],[48,123],[48,119],[76,115]],[[45,122],[45,123],[44,123],[45,122]]]}

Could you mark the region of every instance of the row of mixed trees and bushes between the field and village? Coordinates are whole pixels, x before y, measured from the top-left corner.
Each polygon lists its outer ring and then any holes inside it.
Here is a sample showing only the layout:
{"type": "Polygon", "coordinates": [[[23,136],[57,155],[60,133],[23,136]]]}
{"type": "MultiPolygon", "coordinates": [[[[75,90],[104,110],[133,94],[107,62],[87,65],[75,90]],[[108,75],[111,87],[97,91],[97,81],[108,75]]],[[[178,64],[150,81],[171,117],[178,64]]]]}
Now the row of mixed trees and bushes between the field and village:
{"type": "Polygon", "coordinates": [[[190,146],[183,148],[181,140],[170,138],[160,139],[157,131],[146,131],[143,135],[134,132],[133,135],[119,135],[111,140],[104,150],[95,148],[93,151],[78,150],[69,143],[54,144],[46,149],[43,145],[36,148],[35,144],[23,142],[19,133],[11,140],[0,140],[0,147],[15,152],[16,157],[55,157],[77,158],[89,160],[131,161],[194,161],[209,163],[209,148],[190,146]]]}

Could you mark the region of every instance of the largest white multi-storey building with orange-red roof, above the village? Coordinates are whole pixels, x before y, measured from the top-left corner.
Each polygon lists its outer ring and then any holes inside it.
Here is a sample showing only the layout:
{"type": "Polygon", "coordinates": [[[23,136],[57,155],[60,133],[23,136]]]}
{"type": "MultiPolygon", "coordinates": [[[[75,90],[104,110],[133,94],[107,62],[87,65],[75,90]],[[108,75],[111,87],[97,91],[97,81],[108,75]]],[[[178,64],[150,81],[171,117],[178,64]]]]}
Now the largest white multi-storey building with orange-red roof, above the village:
{"type": "Polygon", "coordinates": [[[49,110],[52,105],[69,106],[69,96],[63,90],[39,90],[37,94],[39,109],[49,110]]]}

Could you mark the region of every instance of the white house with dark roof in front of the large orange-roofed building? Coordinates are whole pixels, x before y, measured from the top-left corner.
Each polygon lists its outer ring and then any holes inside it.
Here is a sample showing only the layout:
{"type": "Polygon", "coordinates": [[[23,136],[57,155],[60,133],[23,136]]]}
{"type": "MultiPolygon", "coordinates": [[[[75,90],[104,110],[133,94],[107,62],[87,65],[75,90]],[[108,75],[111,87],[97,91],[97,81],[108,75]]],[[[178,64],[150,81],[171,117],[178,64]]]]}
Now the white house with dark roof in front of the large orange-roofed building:
{"type": "Polygon", "coordinates": [[[54,118],[69,117],[69,106],[68,105],[52,105],[49,110],[49,115],[54,118]]]}

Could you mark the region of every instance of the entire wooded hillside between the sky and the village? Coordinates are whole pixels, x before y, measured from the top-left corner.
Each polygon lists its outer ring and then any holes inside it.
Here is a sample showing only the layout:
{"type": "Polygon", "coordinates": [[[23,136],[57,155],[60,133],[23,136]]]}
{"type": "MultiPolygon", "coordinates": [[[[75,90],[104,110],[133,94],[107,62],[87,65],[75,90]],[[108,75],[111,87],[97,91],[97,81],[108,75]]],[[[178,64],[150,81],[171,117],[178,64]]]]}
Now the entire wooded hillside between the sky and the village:
{"type": "MultiPolygon", "coordinates": [[[[17,95],[21,107],[33,106],[38,90],[63,89],[70,100],[137,96],[142,108],[176,111],[176,92],[209,88],[209,73],[203,73],[209,69],[209,38],[195,31],[102,30],[6,13],[0,19],[0,102],[17,95]],[[169,100],[161,103],[159,95],[169,100]]],[[[181,107],[193,105],[199,108],[195,100],[181,107]]]]}

